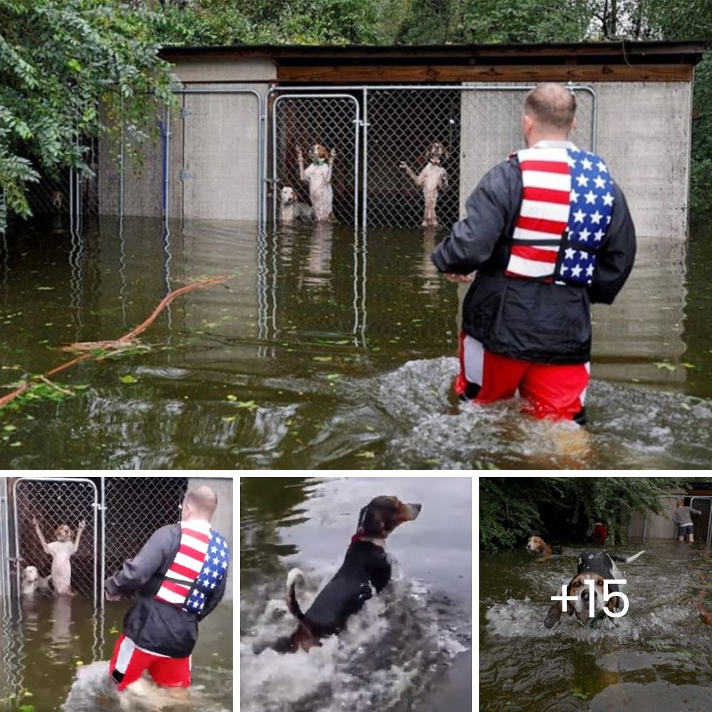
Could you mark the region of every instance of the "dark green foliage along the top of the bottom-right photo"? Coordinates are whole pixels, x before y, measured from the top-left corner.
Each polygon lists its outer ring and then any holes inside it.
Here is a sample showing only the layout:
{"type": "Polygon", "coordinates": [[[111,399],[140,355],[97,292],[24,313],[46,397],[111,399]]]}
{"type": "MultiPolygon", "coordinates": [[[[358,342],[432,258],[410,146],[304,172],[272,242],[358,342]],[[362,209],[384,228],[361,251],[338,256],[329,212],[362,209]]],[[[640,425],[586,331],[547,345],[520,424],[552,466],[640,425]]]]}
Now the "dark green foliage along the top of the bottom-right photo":
{"type": "Polygon", "coordinates": [[[520,546],[562,522],[572,536],[604,520],[609,539],[624,540],[628,515],[661,513],[659,494],[678,486],[676,478],[662,477],[481,477],[479,483],[480,546],[490,552],[520,546]]]}

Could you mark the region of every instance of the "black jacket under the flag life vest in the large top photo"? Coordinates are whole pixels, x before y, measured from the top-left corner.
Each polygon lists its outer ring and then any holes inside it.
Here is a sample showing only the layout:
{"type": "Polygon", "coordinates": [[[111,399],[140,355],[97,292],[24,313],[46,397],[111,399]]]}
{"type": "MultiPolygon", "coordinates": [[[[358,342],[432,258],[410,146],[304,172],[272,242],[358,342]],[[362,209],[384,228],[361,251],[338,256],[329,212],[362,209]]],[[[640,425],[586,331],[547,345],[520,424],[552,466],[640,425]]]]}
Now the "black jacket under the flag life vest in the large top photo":
{"type": "Polygon", "coordinates": [[[483,177],[467,199],[466,217],[431,259],[441,272],[477,271],[462,328],[486,350],[523,361],[585,363],[591,357],[590,305],[613,303],[633,267],[635,228],[625,197],[614,184],[612,220],[590,287],[504,275],[521,202],[522,174],[513,157],[483,177]]]}

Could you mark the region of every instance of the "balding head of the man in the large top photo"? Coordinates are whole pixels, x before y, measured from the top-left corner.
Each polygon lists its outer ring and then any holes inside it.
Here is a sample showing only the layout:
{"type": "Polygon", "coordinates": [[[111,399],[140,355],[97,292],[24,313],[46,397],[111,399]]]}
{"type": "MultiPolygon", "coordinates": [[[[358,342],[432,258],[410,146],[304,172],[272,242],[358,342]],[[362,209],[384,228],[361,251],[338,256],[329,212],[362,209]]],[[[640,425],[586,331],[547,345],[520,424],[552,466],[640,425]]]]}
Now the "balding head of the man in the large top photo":
{"type": "Polygon", "coordinates": [[[541,140],[566,140],[576,125],[576,98],[565,87],[545,82],[524,100],[522,133],[528,147],[541,140]]]}

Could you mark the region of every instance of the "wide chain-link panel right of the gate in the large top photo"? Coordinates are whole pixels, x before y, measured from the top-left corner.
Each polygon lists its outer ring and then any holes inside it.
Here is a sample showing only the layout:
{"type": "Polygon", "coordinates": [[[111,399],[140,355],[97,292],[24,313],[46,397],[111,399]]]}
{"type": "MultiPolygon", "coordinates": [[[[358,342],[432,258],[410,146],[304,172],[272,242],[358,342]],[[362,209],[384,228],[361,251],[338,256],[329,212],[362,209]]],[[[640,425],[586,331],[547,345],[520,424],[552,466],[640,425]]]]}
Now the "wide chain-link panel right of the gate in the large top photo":
{"type": "MultiPolygon", "coordinates": [[[[401,162],[419,174],[431,147],[446,150],[441,161],[447,187],[439,190],[437,221],[449,226],[464,211],[464,201],[483,174],[511,152],[523,148],[520,118],[531,87],[370,88],[367,90],[365,157],[367,224],[417,227],[424,219],[424,194],[401,162]]],[[[572,140],[592,150],[595,95],[572,88],[577,127],[572,140]]],[[[366,222],[366,221],[365,221],[366,222]]]]}

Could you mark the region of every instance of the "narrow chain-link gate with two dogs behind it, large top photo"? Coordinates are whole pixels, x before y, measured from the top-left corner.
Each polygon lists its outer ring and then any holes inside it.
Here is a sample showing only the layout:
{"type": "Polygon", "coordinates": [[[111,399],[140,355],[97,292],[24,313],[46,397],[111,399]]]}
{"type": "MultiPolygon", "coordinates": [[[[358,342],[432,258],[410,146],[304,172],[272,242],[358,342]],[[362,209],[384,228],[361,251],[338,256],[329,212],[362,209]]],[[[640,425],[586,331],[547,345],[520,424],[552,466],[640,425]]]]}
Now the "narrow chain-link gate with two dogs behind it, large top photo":
{"type": "Polygon", "coordinates": [[[298,147],[304,164],[314,144],[335,150],[332,172],[333,214],[337,222],[358,224],[360,106],[345,93],[290,93],[278,95],[272,104],[272,218],[277,223],[279,195],[292,187],[308,202],[308,187],[300,179],[298,147]]]}

